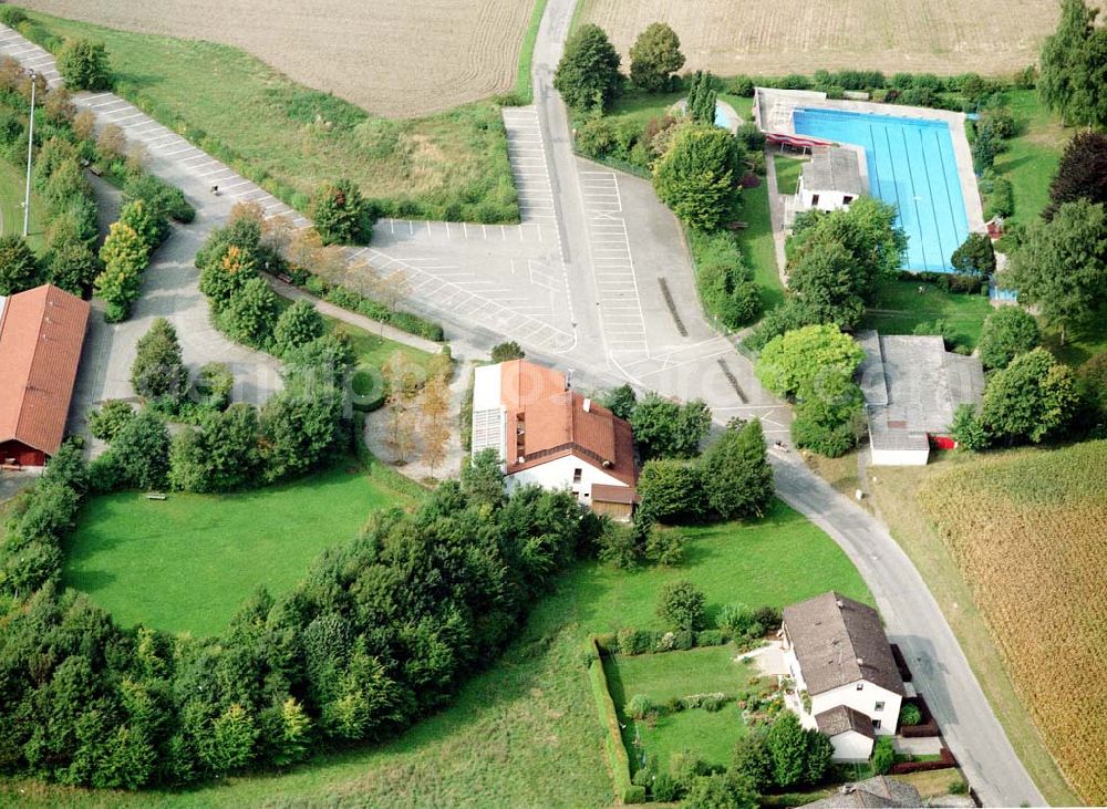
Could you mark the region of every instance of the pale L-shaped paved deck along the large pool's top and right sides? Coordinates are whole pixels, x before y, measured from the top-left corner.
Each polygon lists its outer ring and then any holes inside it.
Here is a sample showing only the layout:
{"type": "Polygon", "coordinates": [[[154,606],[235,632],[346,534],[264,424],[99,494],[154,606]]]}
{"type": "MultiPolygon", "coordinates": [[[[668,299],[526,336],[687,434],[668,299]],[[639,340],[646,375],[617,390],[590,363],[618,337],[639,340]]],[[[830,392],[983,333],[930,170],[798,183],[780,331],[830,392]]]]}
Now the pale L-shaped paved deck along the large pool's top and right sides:
{"type": "Polygon", "coordinates": [[[972,168],[972,149],[969,147],[969,137],[965,135],[966,116],[964,113],[921,106],[878,104],[872,101],[839,101],[827,98],[826,93],[810,90],[756,89],[754,116],[763,132],[796,135],[792,117],[796,107],[840,110],[842,112],[920,118],[922,121],[944,121],[950,127],[950,135],[953,139],[953,157],[956,162],[958,178],[961,180],[961,196],[964,197],[969,231],[987,232],[984,227],[984,209],[981,206],[980,191],[976,188],[976,174],[972,168]]]}

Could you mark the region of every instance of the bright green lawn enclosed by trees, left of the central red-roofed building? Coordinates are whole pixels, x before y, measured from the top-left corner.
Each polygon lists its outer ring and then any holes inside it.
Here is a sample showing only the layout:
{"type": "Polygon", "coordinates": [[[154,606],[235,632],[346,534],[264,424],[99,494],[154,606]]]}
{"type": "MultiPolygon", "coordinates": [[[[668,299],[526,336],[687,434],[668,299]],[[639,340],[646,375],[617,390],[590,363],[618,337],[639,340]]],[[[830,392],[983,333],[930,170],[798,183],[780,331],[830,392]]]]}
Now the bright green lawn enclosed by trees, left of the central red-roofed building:
{"type": "Polygon", "coordinates": [[[234,495],[92,497],[65,547],[64,579],[124,625],[214,634],[259,584],[288,590],[374,509],[407,501],[352,459],[234,495]]]}

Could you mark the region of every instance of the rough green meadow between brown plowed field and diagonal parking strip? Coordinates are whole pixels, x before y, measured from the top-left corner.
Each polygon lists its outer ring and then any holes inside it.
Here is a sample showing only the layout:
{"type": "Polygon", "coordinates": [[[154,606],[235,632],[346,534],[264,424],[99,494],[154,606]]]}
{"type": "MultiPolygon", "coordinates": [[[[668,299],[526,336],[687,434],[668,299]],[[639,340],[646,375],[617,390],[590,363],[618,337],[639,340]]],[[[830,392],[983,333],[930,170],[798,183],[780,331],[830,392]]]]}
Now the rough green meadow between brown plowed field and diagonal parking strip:
{"type": "Polygon", "coordinates": [[[375,117],[236,48],[29,15],[35,24],[28,33],[40,43],[103,41],[120,95],[296,208],[304,209],[321,183],[343,177],[389,214],[518,220],[504,124],[492,102],[415,120],[375,117]]]}

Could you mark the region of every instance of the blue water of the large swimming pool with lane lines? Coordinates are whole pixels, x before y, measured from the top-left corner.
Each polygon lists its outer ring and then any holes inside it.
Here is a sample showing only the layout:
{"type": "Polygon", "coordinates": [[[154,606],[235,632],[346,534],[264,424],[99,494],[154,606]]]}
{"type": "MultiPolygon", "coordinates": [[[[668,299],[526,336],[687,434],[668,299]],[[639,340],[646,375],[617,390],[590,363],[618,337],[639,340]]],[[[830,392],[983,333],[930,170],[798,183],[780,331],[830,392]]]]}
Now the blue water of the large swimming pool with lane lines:
{"type": "Polygon", "coordinates": [[[869,190],[897,207],[908,235],[904,267],[952,272],[969,218],[948,124],[811,108],[796,110],[793,122],[797,135],[863,147],[869,190]]]}

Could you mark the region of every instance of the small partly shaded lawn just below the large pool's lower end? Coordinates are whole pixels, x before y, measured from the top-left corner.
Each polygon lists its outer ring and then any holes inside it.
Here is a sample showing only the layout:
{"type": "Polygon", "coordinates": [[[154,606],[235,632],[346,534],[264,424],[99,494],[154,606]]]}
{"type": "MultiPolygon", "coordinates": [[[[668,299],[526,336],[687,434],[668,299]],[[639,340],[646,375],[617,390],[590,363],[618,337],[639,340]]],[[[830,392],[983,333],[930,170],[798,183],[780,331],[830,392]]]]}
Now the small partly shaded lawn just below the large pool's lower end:
{"type": "Polygon", "coordinates": [[[882,334],[913,334],[922,323],[944,320],[952,326],[958,344],[974,349],[984,318],[991,311],[987,298],[981,294],[954,294],[920,281],[887,281],[877,291],[860,328],[876,329],[882,334]]]}

